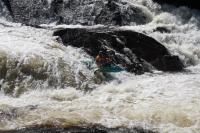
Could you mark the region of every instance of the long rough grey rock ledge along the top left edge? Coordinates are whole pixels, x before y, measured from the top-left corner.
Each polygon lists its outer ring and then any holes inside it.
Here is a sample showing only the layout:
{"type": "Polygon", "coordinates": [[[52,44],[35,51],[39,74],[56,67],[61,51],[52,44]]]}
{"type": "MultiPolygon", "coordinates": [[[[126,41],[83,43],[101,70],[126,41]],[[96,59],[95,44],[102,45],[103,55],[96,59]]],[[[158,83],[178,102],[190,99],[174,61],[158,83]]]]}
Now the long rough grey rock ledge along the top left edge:
{"type": "Polygon", "coordinates": [[[15,22],[39,25],[50,22],[82,25],[145,24],[147,9],[123,0],[3,0],[15,22]]]}

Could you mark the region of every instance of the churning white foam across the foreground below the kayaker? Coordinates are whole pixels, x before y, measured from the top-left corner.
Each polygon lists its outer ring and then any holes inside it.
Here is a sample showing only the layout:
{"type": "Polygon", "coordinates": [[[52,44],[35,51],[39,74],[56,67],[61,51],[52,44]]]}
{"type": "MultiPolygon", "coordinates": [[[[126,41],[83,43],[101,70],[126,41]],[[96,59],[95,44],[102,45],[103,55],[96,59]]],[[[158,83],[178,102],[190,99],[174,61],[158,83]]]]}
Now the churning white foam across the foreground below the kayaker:
{"type": "MultiPolygon", "coordinates": [[[[18,99],[3,97],[1,104],[21,108],[38,105],[38,109],[24,112],[28,118],[40,116],[30,119],[29,124],[53,117],[75,124],[85,121],[108,127],[129,127],[139,122],[140,126],[154,127],[161,132],[199,131],[200,74],[128,75],[118,75],[123,78],[121,83],[113,81],[88,94],[74,88],[38,90],[18,99]],[[43,113],[47,115],[42,116],[43,113]]],[[[20,121],[26,124],[27,117],[20,121]]],[[[15,124],[15,128],[22,126],[15,124]]]]}

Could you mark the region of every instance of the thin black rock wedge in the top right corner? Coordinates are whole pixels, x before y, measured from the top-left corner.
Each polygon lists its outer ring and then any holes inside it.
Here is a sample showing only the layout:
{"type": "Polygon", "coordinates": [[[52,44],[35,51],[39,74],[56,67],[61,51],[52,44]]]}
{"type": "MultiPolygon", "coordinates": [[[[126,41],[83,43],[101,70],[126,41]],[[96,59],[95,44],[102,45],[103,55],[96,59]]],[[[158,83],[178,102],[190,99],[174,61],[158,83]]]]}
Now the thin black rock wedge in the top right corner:
{"type": "Polygon", "coordinates": [[[175,6],[187,6],[189,8],[200,9],[200,4],[198,0],[153,0],[160,4],[172,4],[175,6]]]}

